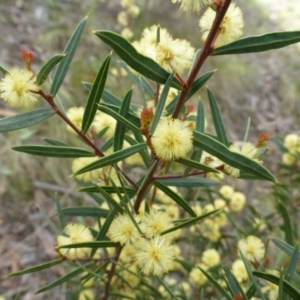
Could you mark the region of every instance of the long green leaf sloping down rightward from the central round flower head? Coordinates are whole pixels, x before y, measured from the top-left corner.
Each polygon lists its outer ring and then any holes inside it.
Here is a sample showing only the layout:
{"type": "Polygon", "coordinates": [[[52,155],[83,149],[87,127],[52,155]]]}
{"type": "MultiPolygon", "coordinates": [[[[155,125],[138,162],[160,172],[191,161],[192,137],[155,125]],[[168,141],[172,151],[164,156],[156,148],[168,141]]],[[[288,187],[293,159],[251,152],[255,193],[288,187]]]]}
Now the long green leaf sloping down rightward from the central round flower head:
{"type": "Polygon", "coordinates": [[[194,145],[234,168],[255,175],[257,179],[276,181],[274,175],[260,163],[230,151],[226,146],[204,133],[194,131],[194,145]]]}

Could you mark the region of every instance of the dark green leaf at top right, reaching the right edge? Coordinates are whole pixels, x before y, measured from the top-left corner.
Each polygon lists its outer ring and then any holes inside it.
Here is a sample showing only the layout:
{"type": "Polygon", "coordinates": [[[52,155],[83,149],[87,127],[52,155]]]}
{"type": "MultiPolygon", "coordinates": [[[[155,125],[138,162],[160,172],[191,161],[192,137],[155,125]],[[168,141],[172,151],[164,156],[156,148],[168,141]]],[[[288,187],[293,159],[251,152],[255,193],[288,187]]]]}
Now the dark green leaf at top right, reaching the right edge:
{"type": "Polygon", "coordinates": [[[300,31],[271,32],[249,36],[218,47],[212,55],[243,54],[282,48],[300,42],[300,31]]]}

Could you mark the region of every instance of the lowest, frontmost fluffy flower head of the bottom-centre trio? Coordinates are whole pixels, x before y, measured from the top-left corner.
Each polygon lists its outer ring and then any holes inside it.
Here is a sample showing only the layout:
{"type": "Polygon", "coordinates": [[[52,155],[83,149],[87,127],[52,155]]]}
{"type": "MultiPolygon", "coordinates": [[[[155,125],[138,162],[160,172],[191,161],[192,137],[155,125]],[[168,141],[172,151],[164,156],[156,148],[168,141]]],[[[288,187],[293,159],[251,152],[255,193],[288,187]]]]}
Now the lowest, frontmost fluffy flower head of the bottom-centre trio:
{"type": "Polygon", "coordinates": [[[161,275],[168,272],[173,265],[174,249],[164,237],[140,239],[136,248],[137,263],[146,275],[161,275]]]}

